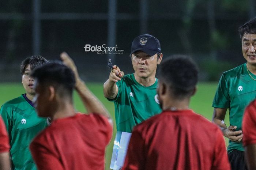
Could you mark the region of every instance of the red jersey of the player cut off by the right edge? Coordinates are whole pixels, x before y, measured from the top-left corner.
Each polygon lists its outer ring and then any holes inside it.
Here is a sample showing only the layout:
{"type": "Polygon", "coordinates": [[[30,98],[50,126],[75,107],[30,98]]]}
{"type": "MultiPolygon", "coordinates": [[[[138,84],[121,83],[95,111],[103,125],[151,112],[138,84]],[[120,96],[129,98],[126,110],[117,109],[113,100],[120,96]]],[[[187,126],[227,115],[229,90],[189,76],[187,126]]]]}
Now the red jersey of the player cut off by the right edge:
{"type": "Polygon", "coordinates": [[[256,144],[256,100],[251,102],[245,109],[242,122],[244,146],[256,144]]]}

